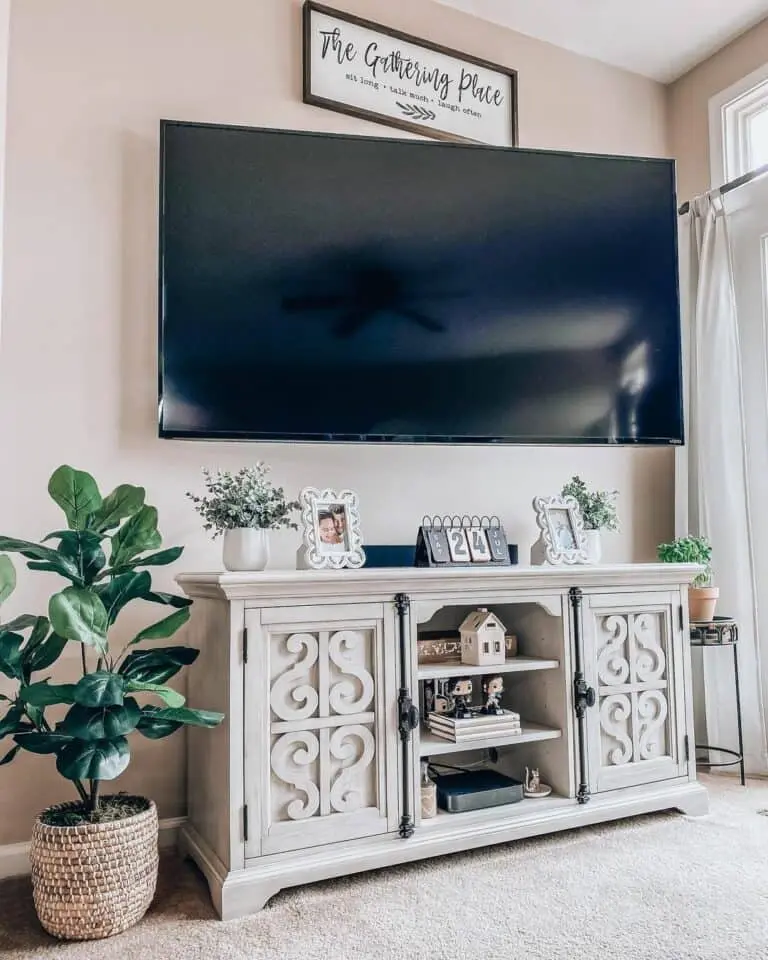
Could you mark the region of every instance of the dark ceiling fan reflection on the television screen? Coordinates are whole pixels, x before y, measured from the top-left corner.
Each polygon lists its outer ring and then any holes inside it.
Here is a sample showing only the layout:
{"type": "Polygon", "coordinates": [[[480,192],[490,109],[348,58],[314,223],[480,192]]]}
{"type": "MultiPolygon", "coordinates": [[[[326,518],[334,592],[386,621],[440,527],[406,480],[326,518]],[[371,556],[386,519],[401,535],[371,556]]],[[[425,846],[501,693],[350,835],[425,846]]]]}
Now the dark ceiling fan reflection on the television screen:
{"type": "MultiPolygon", "coordinates": [[[[421,283],[406,276],[402,268],[379,260],[345,260],[323,271],[324,278],[329,275],[338,278],[339,292],[283,297],[283,309],[286,313],[331,314],[331,333],[339,339],[349,339],[386,316],[401,317],[429,333],[444,333],[445,323],[419,304],[461,296],[421,289],[421,283]]],[[[313,285],[322,287],[323,280],[313,285]]]]}

